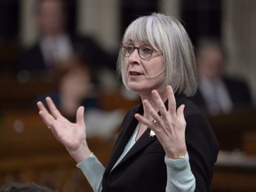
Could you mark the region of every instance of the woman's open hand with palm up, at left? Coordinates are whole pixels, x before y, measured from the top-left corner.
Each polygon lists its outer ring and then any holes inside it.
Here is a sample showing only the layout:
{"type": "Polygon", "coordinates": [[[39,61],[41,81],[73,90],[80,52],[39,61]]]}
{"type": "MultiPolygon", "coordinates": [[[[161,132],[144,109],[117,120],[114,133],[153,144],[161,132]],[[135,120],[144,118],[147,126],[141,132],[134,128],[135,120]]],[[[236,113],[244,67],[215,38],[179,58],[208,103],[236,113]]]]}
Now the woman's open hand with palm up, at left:
{"type": "Polygon", "coordinates": [[[77,163],[83,161],[92,154],[86,142],[84,107],[77,109],[76,123],[71,123],[60,114],[50,97],[45,98],[45,100],[49,111],[41,101],[37,102],[39,115],[42,117],[44,124],[52,131],[56,139],[67,148],[68,153],[77,163]]]}

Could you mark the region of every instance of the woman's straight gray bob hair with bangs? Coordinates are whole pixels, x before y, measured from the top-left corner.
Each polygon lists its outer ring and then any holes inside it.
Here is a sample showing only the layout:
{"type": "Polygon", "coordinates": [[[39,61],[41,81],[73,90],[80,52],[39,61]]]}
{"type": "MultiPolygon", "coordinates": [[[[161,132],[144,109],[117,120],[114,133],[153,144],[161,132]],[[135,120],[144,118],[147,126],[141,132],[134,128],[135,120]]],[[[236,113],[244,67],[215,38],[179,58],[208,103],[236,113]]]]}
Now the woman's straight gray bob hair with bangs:
{"type": "MultiPolygon", "coordinates": [[[[176,93],[183,93],[188,97],[195,94],[197,79],[194,47],[178,20],[160,13],[142,16],[126,28],[122,43],[129,40],[151,44],[157,52],[163,54],[165,77],[162,89],[170,84],[176,93]]],[[[117,72],[127,87],[121,51],[117,59],[117,72]]]]}

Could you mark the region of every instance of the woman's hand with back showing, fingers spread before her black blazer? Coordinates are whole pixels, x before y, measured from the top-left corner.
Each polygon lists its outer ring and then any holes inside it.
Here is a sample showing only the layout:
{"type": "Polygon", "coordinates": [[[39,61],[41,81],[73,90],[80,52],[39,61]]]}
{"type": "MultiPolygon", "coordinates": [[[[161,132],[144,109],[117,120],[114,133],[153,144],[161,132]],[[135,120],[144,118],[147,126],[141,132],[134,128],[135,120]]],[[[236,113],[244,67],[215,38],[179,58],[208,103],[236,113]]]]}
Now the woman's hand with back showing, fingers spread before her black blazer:
{"type": "Polygon", "coordinates": [[[176,109],[176,100],[170,85],[166,87],[166,92],[168,98],[167,109],[159,93],[154,90],[152,91],[152,98],[156,102],[159,113],[152,107],[148,100],[143,100],[144,113],[149,114],[150,119],[140,116],[140,114],[136,114],[135,118],[140,121],[141,124],[147,125],[156,133],[156,137],[162,144],[166,156],[175,159],[180,156],[185,156],[187,152],[185,141],[185,105],[180,105],[180,107],[176,109]]]}

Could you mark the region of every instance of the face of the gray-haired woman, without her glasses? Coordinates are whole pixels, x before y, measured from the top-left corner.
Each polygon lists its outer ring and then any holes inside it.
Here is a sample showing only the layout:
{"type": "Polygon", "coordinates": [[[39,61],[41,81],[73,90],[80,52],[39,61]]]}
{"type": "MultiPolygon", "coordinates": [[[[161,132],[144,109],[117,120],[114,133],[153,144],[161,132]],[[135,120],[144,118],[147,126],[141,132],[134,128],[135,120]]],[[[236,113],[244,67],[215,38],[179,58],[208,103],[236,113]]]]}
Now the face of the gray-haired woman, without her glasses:
{"type": "MultiPolygon", "coordinates": [[[[129,41],[135,47],[147,45],[139,40],[129,41]]],[[[153,49],[154,50],[154,49],[153,49]]],[[[148,60],[140,58],[138,49],[132,52],[131,56],[124,57],[125,76],[127,79],[127,87],[133,92],[148,93],[153,89],[159,90],[164,83],[164,64],[163,56],[159,52],[152,53],[148,60]]]]}

